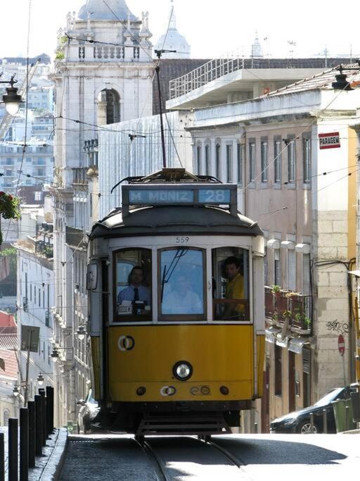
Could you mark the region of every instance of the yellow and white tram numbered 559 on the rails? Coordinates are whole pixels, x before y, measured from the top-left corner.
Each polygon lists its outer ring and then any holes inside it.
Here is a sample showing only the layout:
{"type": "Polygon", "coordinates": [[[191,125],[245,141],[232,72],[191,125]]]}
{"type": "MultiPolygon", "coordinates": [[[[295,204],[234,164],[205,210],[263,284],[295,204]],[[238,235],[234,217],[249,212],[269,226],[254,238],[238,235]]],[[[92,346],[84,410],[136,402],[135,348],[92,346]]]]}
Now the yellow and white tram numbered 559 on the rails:
{"type": "Polygon", "coordinates": [[[182,169],[133,177],[94,225],[88,289],[96,423],[210,435],[262,396],[264,237],[237,186],[182,169]]]}

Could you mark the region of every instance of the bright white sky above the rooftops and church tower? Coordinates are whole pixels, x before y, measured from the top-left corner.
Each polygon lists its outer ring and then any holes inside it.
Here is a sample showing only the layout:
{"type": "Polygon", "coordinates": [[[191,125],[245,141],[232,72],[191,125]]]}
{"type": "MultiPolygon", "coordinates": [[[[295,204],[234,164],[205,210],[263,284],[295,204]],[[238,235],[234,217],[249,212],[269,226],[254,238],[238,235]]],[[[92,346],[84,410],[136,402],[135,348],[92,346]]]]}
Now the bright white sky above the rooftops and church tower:
{"type": "MultiPolygon", "coordinates": [[[[26,56],[30,4],[30,56],[44,52],[53,58],[56,32],[65,26],[68,11],[79,11],[85,1],[16,0],[14,9],[11,1],[1,0],[0,58],[26,56]]],[[[352,50],[360,57],[355,4],[340,8],[324,0],[174,2],[177,28],[191,44],[193,58],[249,56],[255,32],[266,56],[315,56],[327,49],[328,56],[349,55],[352,50]]],[[[127,0],[127,5],[140,18],[141,11],[150,13],[155,44],[167,29],[170,0],[127,0]]]]}

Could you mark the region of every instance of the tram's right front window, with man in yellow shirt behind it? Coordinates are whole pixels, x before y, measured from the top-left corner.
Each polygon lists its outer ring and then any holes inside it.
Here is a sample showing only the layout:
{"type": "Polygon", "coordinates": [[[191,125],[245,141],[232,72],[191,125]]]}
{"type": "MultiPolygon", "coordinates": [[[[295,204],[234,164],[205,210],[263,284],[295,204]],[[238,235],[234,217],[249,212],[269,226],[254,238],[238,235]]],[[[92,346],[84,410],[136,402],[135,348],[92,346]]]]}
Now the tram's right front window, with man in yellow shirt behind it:
{"type": "Polygon", "coordinates": [[[249,254],[238,247],[212,250],[213,319],[250,320],[249,254]]]}

